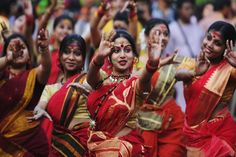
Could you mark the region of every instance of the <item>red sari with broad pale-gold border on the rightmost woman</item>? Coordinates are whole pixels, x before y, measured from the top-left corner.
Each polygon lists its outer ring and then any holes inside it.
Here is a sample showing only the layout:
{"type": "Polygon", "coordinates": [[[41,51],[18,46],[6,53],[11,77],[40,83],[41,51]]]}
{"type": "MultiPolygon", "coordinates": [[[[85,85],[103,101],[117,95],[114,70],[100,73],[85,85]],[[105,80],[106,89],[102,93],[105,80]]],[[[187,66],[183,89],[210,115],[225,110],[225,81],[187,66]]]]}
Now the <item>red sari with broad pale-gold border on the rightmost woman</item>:
{"type": "Polygon", "coordinates": [[[185,87],[187,108],[183,130],[188,156],[235,156],[236,123],[227,107],[212,117],[220,105],[232,69],[226,61],[222,61],[185,87]]]}

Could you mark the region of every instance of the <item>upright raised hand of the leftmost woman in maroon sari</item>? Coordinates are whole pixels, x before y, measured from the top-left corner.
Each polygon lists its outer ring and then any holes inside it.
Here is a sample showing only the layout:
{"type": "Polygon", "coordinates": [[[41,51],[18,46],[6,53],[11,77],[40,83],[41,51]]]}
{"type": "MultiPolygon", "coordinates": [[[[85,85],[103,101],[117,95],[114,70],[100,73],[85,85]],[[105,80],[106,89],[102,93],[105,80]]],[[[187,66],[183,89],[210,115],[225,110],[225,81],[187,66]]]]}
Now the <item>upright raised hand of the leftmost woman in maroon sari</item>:
{"type": "Polygon", "coordinates": [[[49,33],[46,29],[39,30],[37,37],[38,51],[43,53],[49,48],[49,33]]]}

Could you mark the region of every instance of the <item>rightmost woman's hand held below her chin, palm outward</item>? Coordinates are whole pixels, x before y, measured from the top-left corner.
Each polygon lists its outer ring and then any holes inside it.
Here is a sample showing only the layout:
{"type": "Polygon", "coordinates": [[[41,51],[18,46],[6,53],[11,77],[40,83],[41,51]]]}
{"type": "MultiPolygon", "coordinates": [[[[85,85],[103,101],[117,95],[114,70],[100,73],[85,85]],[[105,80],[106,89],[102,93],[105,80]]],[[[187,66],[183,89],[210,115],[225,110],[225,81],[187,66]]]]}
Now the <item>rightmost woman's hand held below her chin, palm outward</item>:
{"type": "Polygon", "coordinates": [[[196,60],[195,76],[203,75],[208,70],[209,66],[210,61],[205,56],[205,52],[201,51],[196,60]]]}

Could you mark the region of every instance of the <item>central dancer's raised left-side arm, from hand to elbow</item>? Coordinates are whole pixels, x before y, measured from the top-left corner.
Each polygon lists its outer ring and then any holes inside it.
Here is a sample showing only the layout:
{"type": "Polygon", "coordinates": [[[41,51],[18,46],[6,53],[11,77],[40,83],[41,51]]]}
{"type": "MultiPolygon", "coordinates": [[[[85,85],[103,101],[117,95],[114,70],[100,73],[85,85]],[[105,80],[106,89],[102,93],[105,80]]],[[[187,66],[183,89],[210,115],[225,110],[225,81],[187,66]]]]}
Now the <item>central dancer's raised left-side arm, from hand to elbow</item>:
{"type": "Polygon", "coordinates": [[[111,54],[111,48],[114,44],[112,42],[114,35],[115,31],[102,34],[102,40],[99,48],[95,52],[93,60],[90,62],[87,82],[93,89],[95,89],[98,83],[102,80],[99,70],[104,63],[104,59],[111,54]]]}

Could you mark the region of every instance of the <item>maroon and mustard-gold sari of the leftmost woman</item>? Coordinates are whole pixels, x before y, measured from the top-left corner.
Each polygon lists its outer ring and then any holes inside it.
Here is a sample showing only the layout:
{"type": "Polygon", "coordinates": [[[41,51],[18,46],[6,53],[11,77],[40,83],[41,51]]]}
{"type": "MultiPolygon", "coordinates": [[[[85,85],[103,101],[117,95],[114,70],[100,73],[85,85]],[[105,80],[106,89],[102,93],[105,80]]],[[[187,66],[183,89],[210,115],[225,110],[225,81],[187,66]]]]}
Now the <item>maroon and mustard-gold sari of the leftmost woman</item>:
{"type": "Polygon", "coordinates": [[[29,123],[27,117],[33,116],[33,113],[25,110],[32,99],[35,81],[36,70],[33,69],[1,83],[0,156],[48,154],[45,147],[40,148],[40,144],[47,145],[42,142],[44,136],[39,121],[29,123]]]}

